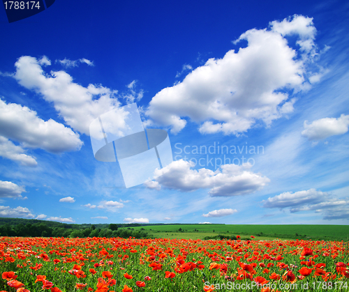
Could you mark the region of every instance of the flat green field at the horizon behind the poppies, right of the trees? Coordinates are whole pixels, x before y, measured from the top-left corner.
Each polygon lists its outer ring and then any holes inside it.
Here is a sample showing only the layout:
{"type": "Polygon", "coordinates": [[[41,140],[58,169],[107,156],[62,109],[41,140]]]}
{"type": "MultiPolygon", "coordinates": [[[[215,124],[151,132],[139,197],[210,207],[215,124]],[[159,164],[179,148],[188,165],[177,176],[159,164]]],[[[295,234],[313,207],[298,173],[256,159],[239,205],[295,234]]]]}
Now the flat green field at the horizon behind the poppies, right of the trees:
{"type": "Polygon", "coordinates": [[[233,224],[163,224],[137,226],[156,238],[203,239],[207,236],[241,236],[257,240],[304,239],[304,240],[349,240],[348,225],[233,225],[233,224]],[[179,231],[181,229],[181,231],[179,231]],[[196,231],[195,231],[196,230],[196,231]]]}

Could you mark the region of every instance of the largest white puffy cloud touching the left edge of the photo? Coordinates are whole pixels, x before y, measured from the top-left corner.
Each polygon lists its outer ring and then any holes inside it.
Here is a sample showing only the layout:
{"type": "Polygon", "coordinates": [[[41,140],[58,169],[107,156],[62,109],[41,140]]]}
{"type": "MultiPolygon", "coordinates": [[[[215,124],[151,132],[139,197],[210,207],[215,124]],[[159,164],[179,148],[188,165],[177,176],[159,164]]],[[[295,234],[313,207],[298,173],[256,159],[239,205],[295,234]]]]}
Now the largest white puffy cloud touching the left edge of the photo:
{"type": "MultiPolygon", "coordinates": [[[[28,107],[6,104],[3,100],[0,100],[0,135],[20,142],[22,147],[41,148],[52,153],[80,150],[83,144],[79,135],[61,123],[52,119],[43,121],[28,107]]],[[[12,147],[11,151],[14,155],[20,148],[12,147]]],[[[18,159],[34,163],[29,157],[18,159]]]]}

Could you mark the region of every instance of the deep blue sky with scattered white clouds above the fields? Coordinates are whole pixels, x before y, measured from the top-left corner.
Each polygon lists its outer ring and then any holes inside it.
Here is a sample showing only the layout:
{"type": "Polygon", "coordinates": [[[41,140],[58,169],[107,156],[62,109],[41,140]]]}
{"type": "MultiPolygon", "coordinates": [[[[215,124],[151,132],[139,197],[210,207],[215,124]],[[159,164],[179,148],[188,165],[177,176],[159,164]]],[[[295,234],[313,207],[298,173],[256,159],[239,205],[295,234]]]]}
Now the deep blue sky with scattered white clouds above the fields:
{"type": "Polygon", "coordinates": [[[0,216],[348,224],[348,16],[346,1],[1,10],[0,216]],[[126,188],[89,125],[133,102],[174,162],[126,188]]]}

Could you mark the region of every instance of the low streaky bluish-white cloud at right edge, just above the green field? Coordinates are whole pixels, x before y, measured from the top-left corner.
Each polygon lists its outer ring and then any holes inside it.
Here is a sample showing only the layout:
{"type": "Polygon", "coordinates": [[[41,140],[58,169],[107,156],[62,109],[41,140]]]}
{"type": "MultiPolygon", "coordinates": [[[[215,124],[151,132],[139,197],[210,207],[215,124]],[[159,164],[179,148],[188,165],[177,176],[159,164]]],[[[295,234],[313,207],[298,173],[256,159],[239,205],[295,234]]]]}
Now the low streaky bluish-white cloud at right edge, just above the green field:
{"type": "Polygon", "coordinates": [[[283,192],[262,201],[264,208],[290,208],[291,213],[315,211],[324,220],[349,219],[349,200],[339,199],[327,192],[310,189],[299,192],[283,192]]]}

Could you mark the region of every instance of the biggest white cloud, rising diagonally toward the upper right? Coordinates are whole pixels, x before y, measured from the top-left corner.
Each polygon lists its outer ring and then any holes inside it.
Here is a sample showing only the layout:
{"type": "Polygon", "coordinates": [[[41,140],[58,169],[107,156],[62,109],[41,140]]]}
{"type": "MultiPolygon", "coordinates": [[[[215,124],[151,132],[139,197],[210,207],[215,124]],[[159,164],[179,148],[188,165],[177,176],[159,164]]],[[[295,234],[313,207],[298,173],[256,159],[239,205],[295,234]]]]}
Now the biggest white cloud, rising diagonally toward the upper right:
{"type": "Polygon", "coordinates": [[[295,100],[283,89],[310,86],[306,80],[312,73],[306,63],[315,54],[315,31],[312,18],[301,15],[272,22],[269,29],[246,31],[235,44],[247,40],[247,47],[209,59],[183,82],[156,93],[145,112],[147,124],[177,133],[189,118],[203,134],[225,135],[246,132],[258,120],[270,125],[293,111],[295,100]],[[296,49],[285,38],[292,35],[297,37],[296,49]]]}

